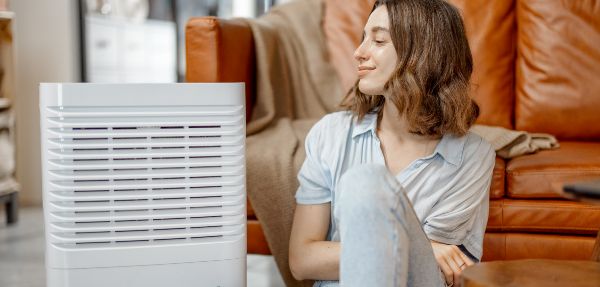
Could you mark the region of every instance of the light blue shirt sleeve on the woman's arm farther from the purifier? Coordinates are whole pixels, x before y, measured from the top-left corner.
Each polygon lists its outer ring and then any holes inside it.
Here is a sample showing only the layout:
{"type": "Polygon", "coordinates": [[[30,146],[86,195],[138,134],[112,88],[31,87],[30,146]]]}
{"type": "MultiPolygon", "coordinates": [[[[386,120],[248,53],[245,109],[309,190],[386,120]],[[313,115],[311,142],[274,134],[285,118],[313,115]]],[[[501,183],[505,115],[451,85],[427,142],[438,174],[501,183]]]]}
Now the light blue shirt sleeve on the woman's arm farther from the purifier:
{"type": "Polygon", "coordinates": [[[432,208],[423,229],[427,237],[446,244],[463,244],[475,225],[487,222],[489,189],[495,165],[491,145],[476,138],[471,148],[465,148],[463,161],[453,175],[452,188],[432,208]],[[481,215],[481,216],[476,216],[481,215]],[[484,217],[485,222],[478,222],[484,217]]]}

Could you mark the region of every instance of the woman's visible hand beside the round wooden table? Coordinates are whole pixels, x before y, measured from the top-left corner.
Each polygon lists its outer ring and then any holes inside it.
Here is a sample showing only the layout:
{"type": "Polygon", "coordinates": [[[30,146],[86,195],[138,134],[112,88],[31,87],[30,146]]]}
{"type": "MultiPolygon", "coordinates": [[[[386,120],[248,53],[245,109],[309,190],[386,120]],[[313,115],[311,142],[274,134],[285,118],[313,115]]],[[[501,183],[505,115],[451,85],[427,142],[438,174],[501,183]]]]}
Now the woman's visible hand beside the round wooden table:
{"type": "Polygon", "coordinates": [[[467,266],[473,265],[473,261],[467,257],[456,245],[444,244],[431,241],[433,254],[440,269],[444,273],[446,285],[460,286],[460,274],[467,266]]]}

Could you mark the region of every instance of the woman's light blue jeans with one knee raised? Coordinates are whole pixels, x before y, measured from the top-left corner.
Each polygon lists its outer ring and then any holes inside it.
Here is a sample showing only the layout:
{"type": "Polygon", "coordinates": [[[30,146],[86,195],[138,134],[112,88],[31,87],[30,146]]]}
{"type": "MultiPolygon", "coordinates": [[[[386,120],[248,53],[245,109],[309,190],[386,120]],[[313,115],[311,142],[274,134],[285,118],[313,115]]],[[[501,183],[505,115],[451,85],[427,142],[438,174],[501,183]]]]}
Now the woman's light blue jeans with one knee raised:
{"type": "Polygon", "coordinates": [[[409,199],[382,165],[361,165],[340,181],[340,281],[315,286],[446,286],[409,199]]]}

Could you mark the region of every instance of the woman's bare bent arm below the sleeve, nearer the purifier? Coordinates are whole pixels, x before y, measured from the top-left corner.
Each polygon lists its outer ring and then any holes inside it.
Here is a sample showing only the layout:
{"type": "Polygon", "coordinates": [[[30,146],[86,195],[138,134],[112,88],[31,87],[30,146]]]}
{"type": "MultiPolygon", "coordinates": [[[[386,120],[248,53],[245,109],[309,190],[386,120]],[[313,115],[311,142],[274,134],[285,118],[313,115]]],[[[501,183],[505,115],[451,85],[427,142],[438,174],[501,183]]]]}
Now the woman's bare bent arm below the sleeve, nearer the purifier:
{"type": "Polygon", "coordinates": [[[297,280],[339,280],[340,243],[326,241],[331,203],[296,205],[290,270],[297,280]]]}

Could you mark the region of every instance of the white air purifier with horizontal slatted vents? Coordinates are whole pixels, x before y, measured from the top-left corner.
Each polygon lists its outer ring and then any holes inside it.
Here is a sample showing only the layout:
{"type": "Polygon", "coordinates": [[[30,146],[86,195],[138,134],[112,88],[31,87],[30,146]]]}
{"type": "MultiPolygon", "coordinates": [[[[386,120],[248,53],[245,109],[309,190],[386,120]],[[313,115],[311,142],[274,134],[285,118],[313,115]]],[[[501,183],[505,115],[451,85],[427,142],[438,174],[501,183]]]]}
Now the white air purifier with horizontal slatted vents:
{"type": "Polygon", "coordinates": [[[41,84],[49,287],[245,286],[244,85],[41,84]]]}

